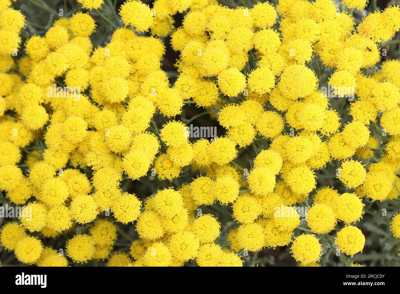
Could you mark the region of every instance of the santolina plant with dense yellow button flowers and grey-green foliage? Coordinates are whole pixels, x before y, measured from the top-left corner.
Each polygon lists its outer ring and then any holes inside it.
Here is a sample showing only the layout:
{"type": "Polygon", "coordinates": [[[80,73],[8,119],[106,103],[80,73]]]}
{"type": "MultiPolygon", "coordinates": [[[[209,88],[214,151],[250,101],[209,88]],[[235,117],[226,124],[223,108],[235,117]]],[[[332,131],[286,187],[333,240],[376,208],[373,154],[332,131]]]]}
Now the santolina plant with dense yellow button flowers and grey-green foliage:
{"type": "Polygon", "coordinates": [[[2,266],[400,265],[400,7],[241,3],[0,0],[2,266]]]}

